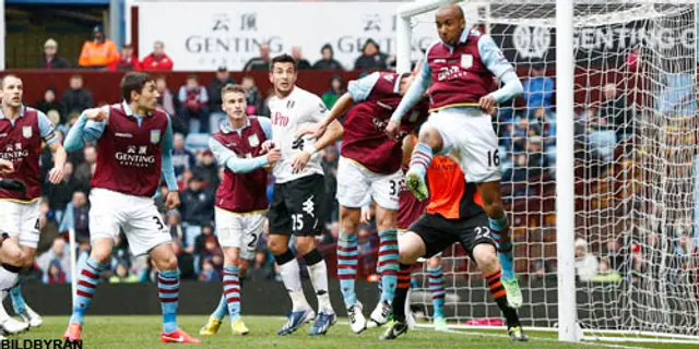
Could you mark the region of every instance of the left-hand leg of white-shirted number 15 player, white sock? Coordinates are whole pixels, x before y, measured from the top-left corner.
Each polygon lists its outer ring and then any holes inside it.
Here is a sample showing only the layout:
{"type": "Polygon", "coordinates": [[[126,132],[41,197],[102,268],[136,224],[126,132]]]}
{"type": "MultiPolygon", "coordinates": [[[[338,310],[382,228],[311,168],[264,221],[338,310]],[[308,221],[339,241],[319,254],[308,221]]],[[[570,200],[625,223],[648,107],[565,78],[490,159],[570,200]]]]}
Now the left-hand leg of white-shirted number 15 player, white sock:
{"type": "Polygon", "coordinates": [[[304,296],[299,275],[300,267],[298,266],[296,255],[288,249],[288,239],[286,234],[270,234],[268,239],[268,248],[270,252],[272,252],[272,255],[274,255],[274,261],[276,261],[276,265],[279,265],[280,273],[282,274],[284,288],[286,288],[292,299],[292,312],[284,326],[276,333],[280,336],[294,333],[315,316],[312,309],[306,300],[306,296],[304,296]]]}

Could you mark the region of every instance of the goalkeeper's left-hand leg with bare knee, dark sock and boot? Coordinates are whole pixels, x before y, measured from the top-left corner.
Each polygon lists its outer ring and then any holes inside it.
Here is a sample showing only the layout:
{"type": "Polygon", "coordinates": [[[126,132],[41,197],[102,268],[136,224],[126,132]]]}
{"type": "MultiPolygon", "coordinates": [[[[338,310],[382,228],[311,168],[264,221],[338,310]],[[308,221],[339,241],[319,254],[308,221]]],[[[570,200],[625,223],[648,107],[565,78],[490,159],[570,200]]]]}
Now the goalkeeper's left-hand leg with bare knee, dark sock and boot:
{"type": "Polygon", "coordinates": [[[400,270],[398,288],[395,290],[395,297],[393,298],[393,321],[389,323],[388,328],[379,339],[395,339],[407,332],[405,300],[410,289],[411,269],[415,262],[417,262],[417,258],[425,255],[425,242],[419,236],[412,231],[401,234],[399,238],[400,270]]]}

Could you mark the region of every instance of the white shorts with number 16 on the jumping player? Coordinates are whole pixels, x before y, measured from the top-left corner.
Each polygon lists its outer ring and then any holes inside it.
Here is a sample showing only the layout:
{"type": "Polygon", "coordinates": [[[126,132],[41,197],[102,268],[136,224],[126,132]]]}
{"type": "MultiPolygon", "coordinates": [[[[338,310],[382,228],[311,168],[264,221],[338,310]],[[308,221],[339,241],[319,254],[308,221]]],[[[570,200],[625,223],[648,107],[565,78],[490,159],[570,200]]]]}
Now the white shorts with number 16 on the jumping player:
{"type": "Polygon", "coordinates": [[[500,180],[501,154],[489,115],[474,108],[445,109],[433,112],[425,127],[439,131],[443,142],[439,155],[455,156],[466,182],[500,180]]]}

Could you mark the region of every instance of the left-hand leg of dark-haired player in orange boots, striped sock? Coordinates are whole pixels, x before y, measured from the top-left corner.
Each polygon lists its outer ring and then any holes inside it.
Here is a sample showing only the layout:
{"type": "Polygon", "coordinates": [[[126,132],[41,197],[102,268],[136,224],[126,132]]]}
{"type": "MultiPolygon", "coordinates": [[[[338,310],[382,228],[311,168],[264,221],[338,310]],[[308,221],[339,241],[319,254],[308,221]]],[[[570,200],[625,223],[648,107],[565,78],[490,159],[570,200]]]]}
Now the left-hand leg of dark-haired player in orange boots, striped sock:
{"type": "Polygon", "coordinates": [[[85,261],[78,276],[78,290],[75,292],[75,302],[73,303],[73,313],[68,322],[68,329],[66,329],[63,334],[63,339],[69,341],[80,340],[85,311],[87,306],[90,306],[92,297],[99,282],[99,274],[111,258],[112,249],[114,240],[111,238],[98,238],[92,241],[90,257],[85,261]]]}

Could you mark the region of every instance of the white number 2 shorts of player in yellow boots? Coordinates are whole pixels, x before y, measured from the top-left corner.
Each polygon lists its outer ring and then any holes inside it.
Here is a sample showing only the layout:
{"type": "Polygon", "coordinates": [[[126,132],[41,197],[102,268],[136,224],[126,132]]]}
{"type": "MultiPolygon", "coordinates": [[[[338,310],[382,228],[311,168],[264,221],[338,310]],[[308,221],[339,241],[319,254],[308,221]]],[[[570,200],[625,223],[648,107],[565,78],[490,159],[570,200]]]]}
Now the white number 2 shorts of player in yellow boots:
{"type": "Polygon", "coordinates": [[[264,213],[236,214],[215,207],[216,236],[222,248],[240,249],[240,257],[251,261],[258,246],[264,213]]]}

